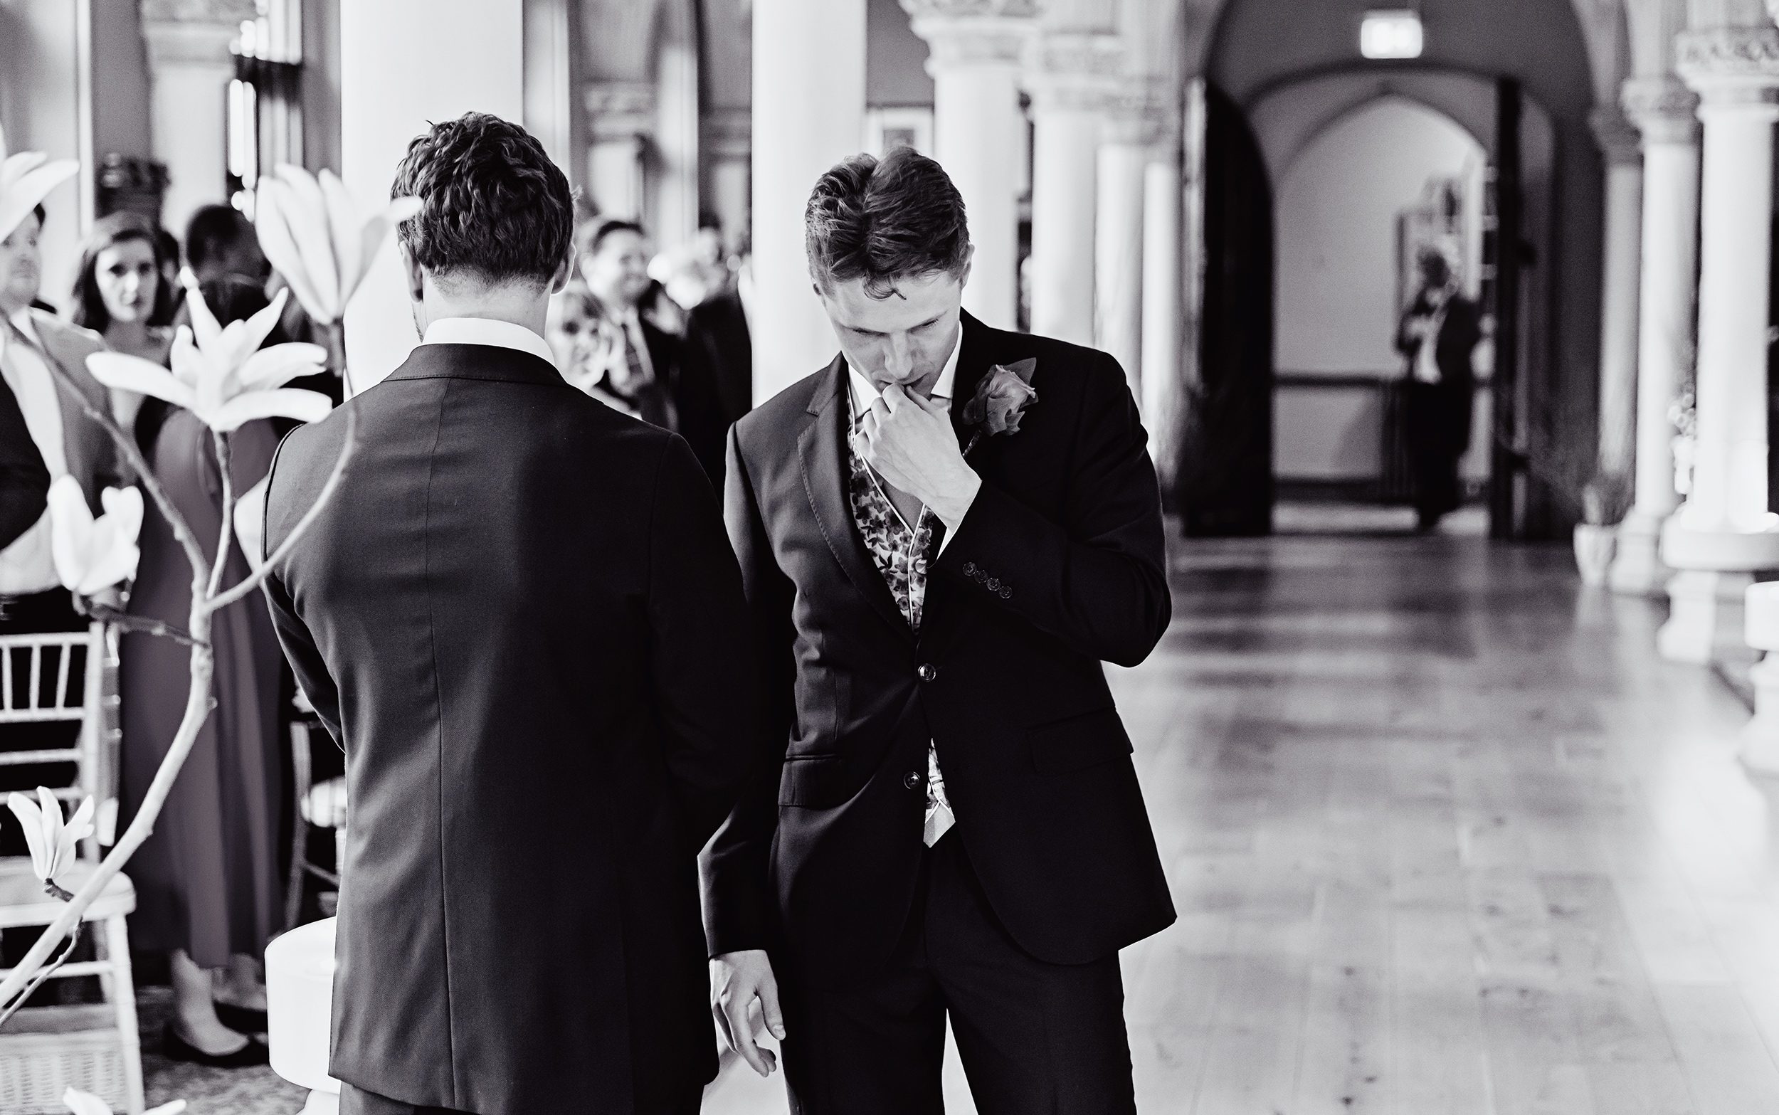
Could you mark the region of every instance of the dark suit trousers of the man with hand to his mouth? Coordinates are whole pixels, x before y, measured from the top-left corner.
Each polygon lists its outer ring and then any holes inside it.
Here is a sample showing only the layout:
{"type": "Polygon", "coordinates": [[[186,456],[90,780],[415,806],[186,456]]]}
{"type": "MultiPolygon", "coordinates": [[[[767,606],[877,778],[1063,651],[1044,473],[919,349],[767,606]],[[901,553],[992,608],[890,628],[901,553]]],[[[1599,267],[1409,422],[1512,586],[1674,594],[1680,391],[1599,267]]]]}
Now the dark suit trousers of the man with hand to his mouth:
{"type": "Polygon", "coordinates": [[[845,989],[781,969],[793,1115],[943,1115],[950,1015],[982,1115],[1135,1115],[1117,955],[1044,964],[989,909],[954,830],[923,852],[890,964],[845,989]]]}

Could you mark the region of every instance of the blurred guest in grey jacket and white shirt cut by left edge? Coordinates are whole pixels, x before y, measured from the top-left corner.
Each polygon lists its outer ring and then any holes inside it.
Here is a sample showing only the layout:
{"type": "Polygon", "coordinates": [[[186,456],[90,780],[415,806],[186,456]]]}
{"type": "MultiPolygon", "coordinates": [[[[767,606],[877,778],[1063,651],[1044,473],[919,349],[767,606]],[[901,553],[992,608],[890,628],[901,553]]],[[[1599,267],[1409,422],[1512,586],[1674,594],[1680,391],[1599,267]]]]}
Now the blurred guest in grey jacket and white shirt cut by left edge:
{"type": "MultiPolygon", "coordinates": [[[[27,434],[21,439],[20,423],[9,425],[0,420],[0,457],[11,457],[14,468],[32,475],[28,498],[14,510],[37,510],[20,533],[11,526],[0,533],[0,635],[80,631],[87,624],[85,617],[75,612],[73,596],[62,589],[55,574],[50,512],[43,507],[41,493],[36,493],[37,482],[75,477],[93,514],[103,510],[100,493],[121,482],[116,445],[96,421],[87,418],[80,404],[57,386],[57,377],[66,377],[89,405],[105,409],[107,391],[87,372],[87,356],[101,352],[103,341],[85,329],[32,308],[43,281],[43,258],[37,247],[41,229],[39,206],[25,213],[0,240],[0,379],[5,381],[27,434]],[[36,475],[37,468],[46,477],[36,475]]],[[[78,678],[84,665],[75,660],[69,672],[78,678]]],[[[5,731],[5,747],[32,750],[68,747],[76,731],[78,726],[73,724],[16,724],[5,731]]],[[[68,781],[66,772],[57,768],[11,766],[0,774],[0,790],[39,782],[66,786],[68,781]]],[[[18,852],[11,843],[5,850],[18,852]]]]}

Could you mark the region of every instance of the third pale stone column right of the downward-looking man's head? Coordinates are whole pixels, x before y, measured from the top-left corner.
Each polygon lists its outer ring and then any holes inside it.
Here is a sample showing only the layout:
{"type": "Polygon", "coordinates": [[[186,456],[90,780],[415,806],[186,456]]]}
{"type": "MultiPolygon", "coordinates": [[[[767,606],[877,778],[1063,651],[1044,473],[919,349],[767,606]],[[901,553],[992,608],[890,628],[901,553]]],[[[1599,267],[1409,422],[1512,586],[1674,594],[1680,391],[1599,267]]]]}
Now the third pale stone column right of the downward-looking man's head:
{"type": "Polygon", "coordinates": [[[1112,98],[1099,144],[1094,219],[1094,345],[1117,357],[1133,398],[1142,398],[1142,260],[1149,149],[1162,137],[1147,82],[1112,98]]]}

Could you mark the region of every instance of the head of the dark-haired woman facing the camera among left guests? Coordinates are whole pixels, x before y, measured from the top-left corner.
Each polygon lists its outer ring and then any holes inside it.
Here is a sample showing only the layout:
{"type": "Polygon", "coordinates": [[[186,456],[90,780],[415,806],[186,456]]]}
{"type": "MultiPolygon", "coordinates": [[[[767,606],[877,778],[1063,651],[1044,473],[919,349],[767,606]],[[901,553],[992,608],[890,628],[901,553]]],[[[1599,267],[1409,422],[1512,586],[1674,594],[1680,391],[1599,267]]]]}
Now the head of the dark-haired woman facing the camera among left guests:
{"type": "MultiPolygon", "coordinates": [[[[178,267],[178,260],[171,261],[178,267]]],[[[169,260],[160,229],[141,213],[101,217],[80,247],[75,276],[73,320],[105,340],[112,352],[167,363],[173,349],[174,290],[165,279],[169,260]]],[[[130,429],[142,398],[112,391],[112,413],[130,429]]]]}

